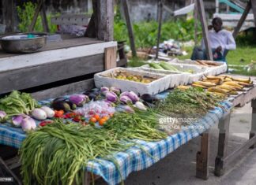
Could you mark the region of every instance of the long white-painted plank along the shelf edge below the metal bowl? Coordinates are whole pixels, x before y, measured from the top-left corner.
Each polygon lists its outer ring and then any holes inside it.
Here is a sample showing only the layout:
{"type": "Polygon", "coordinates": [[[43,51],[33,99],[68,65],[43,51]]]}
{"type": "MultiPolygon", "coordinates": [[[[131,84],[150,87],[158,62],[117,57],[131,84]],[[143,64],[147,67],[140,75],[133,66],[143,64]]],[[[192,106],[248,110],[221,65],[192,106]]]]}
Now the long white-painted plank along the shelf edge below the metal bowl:
{"type": "Polygon", "coordinates": [[[34,54],[23,54],[15,57],[0,58],[0,74],[14,69],[31,68],[32,66],[47,65],[78,57],[104,54],[105,48],[111,46],[116,46],[116,43],[108,42],[85,46],[74,46],[67,49],[48,50],[34,54]]]}

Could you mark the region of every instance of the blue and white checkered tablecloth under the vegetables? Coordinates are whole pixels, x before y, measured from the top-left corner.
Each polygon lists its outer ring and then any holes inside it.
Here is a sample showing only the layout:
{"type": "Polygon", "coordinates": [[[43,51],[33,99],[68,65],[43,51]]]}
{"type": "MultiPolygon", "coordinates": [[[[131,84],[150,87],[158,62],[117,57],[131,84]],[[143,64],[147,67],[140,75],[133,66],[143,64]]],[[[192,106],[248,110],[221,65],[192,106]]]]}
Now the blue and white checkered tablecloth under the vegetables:
{"type": "MultiPolygon", "coordinates": [[[[47,102],[49,101],[41,103],[47,102]]],[[[116,153],[111,157],[119,164],[119,169],[112,161],[104,159],[89,161],[85,168],[88,172],[103,177],[108,184],[117,184],[122,179],[126,179],[130,172],[148,168],[179,146],[217,124],[220,118],[224,116],[224,113],[232,108],[231,102],[223,102],[222,105],[226,110],[216,107],[210,110],[201,120],[198,120],[197,123],[190,124],[190,127],[183,128],[182,131],[168,136],[167,139],[159,142],[136,140],[139,146],[131,147],[129,150],[116,153]],[[143,150],[141,150],[141,147],[143,150]]],[[[25,137],[25,133],[20,128],[12,128],[8,124],[0,124],[0,144],[19,148],[25,137]]]]}

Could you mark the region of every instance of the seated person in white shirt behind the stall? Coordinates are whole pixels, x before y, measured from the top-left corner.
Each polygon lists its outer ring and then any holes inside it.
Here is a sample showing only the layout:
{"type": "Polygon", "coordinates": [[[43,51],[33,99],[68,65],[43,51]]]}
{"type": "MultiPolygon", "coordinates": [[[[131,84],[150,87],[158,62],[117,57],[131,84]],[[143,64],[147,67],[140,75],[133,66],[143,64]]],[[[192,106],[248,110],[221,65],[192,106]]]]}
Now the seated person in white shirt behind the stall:
{"type": "MultiPolygon", "coordinates": [[[[212,21],[213,26],[209,26],[209,43],[213,51],[214,61],[226,61],[226,52],[235,50],[235,39],[231,31],[222,29],[222,20],[215,17],[212,21]],[[211,30],[213,28],[213,30],[211,30]]],[[[201,47],[195,47],[191,60],[206,60],[205,43],[202,39],[201,47]]]]}

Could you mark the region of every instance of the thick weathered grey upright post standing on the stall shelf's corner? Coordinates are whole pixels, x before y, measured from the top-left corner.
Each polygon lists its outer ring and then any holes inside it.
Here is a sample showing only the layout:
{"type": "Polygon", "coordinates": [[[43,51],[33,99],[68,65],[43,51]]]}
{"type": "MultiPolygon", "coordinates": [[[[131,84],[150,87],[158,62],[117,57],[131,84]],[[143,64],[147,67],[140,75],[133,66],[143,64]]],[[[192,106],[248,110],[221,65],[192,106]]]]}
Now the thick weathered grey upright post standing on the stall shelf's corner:
{"type": "Polygon", "coordinates": [[[98,1],[98,39],[114,39],[114,1],[98,1]]]}

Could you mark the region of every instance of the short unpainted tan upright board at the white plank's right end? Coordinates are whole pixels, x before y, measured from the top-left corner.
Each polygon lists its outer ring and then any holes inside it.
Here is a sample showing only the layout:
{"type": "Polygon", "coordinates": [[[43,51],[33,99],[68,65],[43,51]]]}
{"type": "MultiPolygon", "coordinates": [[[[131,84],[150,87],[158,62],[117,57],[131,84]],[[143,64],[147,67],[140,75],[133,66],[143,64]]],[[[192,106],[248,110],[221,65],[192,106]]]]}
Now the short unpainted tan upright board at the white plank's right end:
{"type": "Polygon", "coordinates": [[[116,47],[108,47],[105,49],[105,70],[116,68],[116,47]]]}

